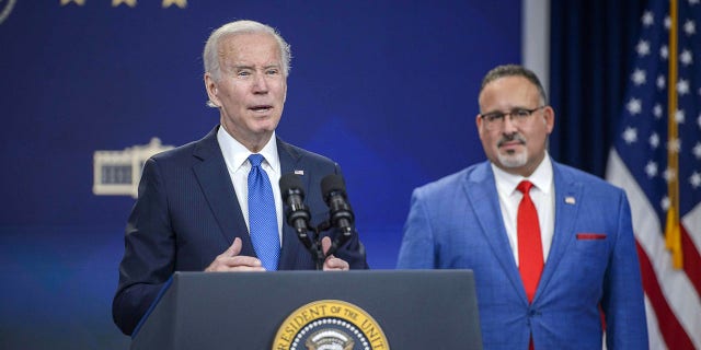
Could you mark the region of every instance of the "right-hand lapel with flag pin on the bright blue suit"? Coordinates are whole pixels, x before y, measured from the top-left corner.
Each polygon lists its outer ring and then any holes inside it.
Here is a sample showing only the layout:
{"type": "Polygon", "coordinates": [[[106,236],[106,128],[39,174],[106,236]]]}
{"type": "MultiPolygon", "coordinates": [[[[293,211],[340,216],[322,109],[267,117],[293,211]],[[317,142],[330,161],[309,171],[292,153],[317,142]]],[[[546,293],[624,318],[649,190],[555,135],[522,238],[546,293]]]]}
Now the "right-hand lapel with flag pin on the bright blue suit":
{"type": "Polygon", "coordinates": [[[573,228],[577,221],[579,205],[583,202],[584,190],[581,183],[572,180],[572,176],[563,174],[566,170],[552,162],[553,180],[555,183],[555,224],[554,233],[552,236],[552,244],[550,246],[550,253],[548,254],[548,260],[543,269],[543,273],[538,283],[538,291],[536,292],[536,299],[541,294],[541,289],[548,288],[550,280],[552,279],[558,264],[565,255],[567,247],[573,241],[573,228]]]}

